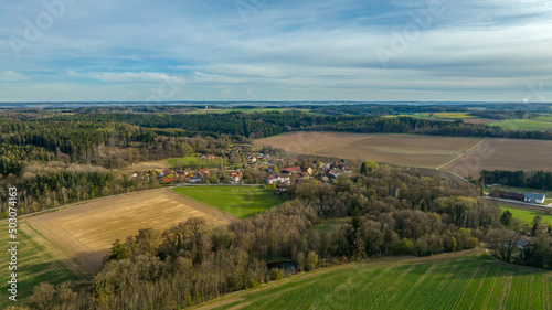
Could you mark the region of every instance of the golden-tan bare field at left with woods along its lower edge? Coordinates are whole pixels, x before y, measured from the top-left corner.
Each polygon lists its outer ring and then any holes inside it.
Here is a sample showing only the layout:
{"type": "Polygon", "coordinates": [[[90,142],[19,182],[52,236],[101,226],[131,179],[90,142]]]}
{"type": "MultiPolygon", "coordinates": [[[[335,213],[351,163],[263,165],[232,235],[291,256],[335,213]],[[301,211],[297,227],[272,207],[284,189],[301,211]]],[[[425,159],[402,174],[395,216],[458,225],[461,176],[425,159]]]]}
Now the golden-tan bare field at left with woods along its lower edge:
{"type": "Polygon", "coordinates": [[[197,216],[212,226],[236,218],[170,190],[158,190],[83,203],[26,221],[86,270],[96,272],[115,239],[125,240],[141,228],[162,232],[197,216]]]}

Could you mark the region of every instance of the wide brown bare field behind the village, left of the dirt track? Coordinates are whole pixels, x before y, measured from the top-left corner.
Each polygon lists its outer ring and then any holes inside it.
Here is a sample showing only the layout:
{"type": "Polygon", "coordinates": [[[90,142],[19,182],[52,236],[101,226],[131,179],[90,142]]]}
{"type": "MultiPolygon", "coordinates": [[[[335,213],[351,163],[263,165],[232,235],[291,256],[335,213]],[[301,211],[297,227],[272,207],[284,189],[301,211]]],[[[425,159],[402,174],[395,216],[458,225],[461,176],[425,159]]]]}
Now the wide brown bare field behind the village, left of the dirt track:
{"type": "Polygon", "coordinates": [[[291,132],[256,140],[290,153],[362,159],[404,167],[437,168],[481,139],[420,135],[291,132]]]}

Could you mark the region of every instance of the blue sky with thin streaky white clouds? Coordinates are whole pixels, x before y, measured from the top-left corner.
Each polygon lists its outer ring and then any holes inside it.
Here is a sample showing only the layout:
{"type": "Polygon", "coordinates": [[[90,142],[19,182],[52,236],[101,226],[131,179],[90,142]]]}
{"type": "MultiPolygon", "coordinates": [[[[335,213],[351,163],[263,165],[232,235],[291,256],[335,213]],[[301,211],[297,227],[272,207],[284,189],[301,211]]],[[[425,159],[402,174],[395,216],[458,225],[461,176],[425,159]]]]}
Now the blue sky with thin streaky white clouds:
{"type": "Polygon", "coordinates": [[[0,101],[552,101],[550,0],[2,1],[0,101]]]}

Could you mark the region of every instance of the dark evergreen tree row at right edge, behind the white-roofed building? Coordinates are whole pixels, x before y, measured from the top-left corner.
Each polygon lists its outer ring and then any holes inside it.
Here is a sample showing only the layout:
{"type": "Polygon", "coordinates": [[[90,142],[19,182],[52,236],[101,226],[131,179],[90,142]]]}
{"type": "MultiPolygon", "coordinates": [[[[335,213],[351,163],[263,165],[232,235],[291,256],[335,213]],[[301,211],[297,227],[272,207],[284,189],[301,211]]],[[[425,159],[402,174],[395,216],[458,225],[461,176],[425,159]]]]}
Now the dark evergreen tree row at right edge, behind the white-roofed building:
{"type": "Polygon", "coordinates": [[[495,170],[480,172],[486,184],[500,184],[512,188],[529,188],[552,191],[552,172],[546,171],[507,171],[495,170]]]}

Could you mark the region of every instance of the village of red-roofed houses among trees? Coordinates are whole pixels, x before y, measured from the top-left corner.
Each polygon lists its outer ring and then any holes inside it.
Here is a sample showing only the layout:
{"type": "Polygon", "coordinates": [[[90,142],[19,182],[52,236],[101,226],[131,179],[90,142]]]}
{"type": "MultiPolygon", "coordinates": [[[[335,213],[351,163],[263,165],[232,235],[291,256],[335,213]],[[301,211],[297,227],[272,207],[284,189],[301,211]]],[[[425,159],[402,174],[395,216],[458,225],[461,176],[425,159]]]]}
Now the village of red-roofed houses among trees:
{"type": "Polygon", "coordinates": [[[160,184],[171,185],[263,184],[266,189],[282,194],[290,184],[300,181],[331,183],[339,175],[348,174],[352,174],[352,169],[342,161],[309,161],[286,157],[274,150],[254,151],[252,148],[238,146],[232,151],[221,151],[217,156],[197,154],[194,164],[177,164],[162,171],[134,171],[128,178],[145,178],[148,181],[157,178],[160,184]],[[235,154],[242,154],[243,160],[229,163],[227,160],[235,159],[235,154]]]}

